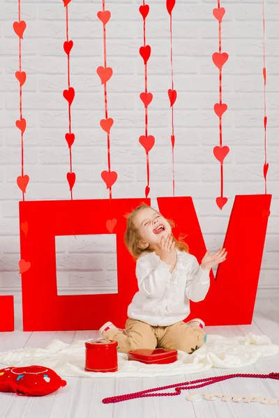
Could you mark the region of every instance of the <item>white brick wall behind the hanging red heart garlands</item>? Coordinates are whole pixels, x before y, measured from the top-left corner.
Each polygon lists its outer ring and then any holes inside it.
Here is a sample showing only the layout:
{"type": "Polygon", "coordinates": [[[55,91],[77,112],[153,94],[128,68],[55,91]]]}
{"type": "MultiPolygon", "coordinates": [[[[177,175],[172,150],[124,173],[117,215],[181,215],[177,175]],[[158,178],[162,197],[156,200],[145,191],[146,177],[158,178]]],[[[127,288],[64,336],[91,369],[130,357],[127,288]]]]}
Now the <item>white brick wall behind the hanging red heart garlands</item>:
{"type": "MultiPolygon", "coordinates": [[[[141,2],[106,1],[112,19],[107,24],[107,65],[114,70],[108,87],[112,128],[112,169],[119,173],[114,197],[139,197],[146,182],[145,155],[138,137],[144,132],[144,111],[139,98],[144,89],[141,2]]],[[[223,139],[231,152],[225,160],[225,196],[222,212],[215,198],[219,192],[219,165],[213,157],[218,145],[218,71],[211,55],[218,50],[218,23],[212,15],[217,1],[178,0],[173,12],[174,107],[176,125],[176,195],[193,196],[199,222],[209,249],[223,244],[235,194],[264,192],[262,0],[223,0],[223,52],[229,61],[223,71],[223,139]]],[[[156,137],[150,153],[151,198],[172,194],[169,145],[170,87],[169,16],[165,0],[149,1],[147,43],[151,45],[149,133],[156,137]]],[[[20,300],[18,201],[16,178],[20,173],[18,118],[18,40],[13,32],[17,1],[0,0],[0,295],[20,300]]],[[[73,0],[69,6],[73,169],[77,199],[107,198],[100,172],[107,167],[103,118],[103,88],[96,75],[103,65],[103,32],[96,17],[101,1],[73,0]]],[[[66,173],[67,132],[65,10],[62,0],[22,0],[22,20],[27,30],[22,42],[23,115],[27,119],[25,172],[31,180],[27,199],[69,199],[66,173]]],[[[279,294],[279,3],[266,0],[266,98],[268,107],[269,192],[273,193],[266,237],[259,296],[279,294]]],[[[116,258],[113,236],[57,238],[59,294],[116,291],[116,258]],[[98,249],[98,253],[97,253],[98,249]]]]}

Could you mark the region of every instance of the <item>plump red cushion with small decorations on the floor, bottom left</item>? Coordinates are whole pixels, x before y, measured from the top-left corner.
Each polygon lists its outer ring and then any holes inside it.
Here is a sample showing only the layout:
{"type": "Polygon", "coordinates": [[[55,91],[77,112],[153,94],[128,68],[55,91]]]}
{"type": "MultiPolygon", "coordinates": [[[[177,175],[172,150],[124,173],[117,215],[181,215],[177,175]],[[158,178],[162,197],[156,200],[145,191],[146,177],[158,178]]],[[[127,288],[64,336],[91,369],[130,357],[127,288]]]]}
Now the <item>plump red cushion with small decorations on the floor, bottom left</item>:
{"type": "Polygon", "coordinates": [[[0,370],[0,392],[44,396],[66,385],[66,380],[44,366],[8,367],[0,370]]]}

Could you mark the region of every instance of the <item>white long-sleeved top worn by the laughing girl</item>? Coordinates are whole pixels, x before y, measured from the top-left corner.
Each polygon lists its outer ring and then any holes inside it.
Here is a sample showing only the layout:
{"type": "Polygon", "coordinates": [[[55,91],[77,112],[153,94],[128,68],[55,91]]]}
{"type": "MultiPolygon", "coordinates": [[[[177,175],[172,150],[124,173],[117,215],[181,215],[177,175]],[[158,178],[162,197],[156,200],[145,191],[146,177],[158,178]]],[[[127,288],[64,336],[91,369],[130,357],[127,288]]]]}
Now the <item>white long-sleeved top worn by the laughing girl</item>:
{"type": "Polygon", "coordinates": [[[155,252],[137,259],[136,276],[139,291],[128,306],[128,317],[149,325],[172,325],[187,318],[190,302],[204,300],[209,291],[209,272],[202,270],[197,258],[177,251],[172,273],[170,265],[155,252]]]}

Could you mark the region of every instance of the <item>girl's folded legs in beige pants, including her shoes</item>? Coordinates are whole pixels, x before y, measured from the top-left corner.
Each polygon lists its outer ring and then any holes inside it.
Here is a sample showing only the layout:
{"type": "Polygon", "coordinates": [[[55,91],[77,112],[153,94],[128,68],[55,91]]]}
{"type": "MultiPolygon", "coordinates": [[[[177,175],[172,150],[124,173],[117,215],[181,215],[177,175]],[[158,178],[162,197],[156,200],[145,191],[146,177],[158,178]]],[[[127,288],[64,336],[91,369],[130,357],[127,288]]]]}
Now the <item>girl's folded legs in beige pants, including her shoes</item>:
{"type": "Polygon", "coordinates": [[[128,353],[137,348],[174,348],[192,354],[204,345],[204,336],[200,327],[190,327],[183,321],[167,327],[156,327],[131,318],[126,320],[126,334],[117,328],[103,332],[105,339],[118,342],[119,353],[128,353]]]}

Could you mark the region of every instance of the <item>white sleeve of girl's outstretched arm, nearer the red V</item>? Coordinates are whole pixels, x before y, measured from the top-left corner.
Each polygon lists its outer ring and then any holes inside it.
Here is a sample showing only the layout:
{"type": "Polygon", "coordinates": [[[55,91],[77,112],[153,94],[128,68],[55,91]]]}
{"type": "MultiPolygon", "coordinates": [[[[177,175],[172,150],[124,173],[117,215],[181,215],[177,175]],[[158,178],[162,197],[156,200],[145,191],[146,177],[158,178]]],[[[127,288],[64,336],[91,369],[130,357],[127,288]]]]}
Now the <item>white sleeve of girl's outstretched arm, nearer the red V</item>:
{"type": "Polygon", "coordinates": [[[210,286],[209,272],[210,270],[201,268],[195,256],[191,257],[185,286],[185,294],[188,299],[193,302],[204,300],[210,286]]]}

